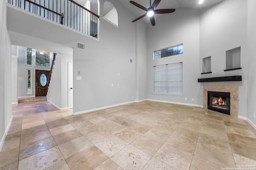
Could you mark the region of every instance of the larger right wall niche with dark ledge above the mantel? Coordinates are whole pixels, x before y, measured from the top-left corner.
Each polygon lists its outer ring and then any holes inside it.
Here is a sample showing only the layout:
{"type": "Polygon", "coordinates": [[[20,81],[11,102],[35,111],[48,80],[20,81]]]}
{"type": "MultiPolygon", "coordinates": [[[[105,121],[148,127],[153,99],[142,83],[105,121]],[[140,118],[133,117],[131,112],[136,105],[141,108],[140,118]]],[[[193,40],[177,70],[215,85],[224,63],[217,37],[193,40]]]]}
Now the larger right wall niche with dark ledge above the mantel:
{"type": "Polygon", "coordinates": [[[226,70],[241,69],[241,47],[226,51],[226,70]]]}

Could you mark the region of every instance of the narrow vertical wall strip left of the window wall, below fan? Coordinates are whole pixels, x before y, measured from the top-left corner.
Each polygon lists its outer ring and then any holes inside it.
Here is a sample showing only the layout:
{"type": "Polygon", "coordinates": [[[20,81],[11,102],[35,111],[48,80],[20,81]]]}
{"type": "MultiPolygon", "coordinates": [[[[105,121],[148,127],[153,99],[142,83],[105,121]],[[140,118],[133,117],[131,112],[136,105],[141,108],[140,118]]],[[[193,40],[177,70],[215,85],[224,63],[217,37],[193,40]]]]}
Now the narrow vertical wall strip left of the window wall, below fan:
{"type": "Polygon", "coordinates": [[[147,27],[143,21],[136,22],[136,100],[147,95],[147,27]]]}

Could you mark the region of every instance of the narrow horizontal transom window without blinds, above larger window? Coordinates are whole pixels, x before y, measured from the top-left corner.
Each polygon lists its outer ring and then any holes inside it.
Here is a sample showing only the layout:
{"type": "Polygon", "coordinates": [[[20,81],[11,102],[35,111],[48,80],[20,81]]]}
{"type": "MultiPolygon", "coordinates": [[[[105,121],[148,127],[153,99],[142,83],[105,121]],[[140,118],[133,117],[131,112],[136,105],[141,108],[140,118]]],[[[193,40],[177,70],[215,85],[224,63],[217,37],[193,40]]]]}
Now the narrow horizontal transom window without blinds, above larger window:
{"type": "Polygon", "coordinates": [[[168,47],[159,51],[154,51],[154,59],[160,59],[172,55],[183,54],[183,44],[168,47]]]}

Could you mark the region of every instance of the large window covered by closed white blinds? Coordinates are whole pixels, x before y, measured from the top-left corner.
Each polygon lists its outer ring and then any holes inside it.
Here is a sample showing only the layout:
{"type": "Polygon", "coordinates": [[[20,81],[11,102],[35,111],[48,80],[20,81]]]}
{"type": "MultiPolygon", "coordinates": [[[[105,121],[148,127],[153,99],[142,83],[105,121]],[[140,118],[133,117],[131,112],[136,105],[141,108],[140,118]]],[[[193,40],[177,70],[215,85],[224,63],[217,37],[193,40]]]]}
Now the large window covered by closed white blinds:
{"type": "Polygon", "coordinates": [[[182,94],[183,63],[154,66],[154,92],[182,94]]]}

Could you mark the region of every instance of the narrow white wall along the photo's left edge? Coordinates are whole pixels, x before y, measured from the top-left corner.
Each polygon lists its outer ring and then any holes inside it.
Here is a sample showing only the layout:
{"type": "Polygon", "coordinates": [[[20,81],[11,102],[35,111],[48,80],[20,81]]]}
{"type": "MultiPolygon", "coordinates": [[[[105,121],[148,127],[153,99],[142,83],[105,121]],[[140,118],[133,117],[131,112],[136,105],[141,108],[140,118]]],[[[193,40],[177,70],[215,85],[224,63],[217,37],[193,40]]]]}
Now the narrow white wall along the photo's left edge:
{"type": "Polygon", "coordinates": [[[12,45],[6,25],[6,1],[0,1],[0,150],[12,121],[12,45]]]}

